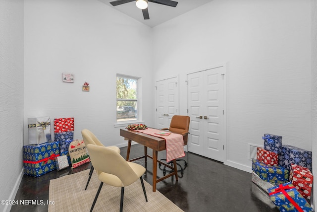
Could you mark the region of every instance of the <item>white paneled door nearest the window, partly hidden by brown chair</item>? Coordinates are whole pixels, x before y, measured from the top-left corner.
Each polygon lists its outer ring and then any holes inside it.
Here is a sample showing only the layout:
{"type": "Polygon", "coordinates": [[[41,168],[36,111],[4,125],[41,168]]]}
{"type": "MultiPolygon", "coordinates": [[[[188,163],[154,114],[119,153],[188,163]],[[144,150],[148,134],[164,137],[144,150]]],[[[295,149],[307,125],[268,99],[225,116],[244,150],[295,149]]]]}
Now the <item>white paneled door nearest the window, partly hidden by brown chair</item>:
{"type": "Polygon", "coordinates": [[[157,126],[169,128],[170,120],[178,114],[178,78],[157,81],[157,126]]]}

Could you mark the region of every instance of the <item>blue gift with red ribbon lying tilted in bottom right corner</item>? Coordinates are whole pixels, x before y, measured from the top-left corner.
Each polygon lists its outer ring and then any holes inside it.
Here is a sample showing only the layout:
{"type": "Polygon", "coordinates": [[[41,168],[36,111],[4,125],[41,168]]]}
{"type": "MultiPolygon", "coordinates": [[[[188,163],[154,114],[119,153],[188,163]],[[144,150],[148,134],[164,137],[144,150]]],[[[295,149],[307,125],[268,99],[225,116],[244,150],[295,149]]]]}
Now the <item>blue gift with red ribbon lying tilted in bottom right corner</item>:
{"type": "Polygon", "coordinates": [[[268,189],[271,201],[281,212],[314,212],[291,182],[268,189]]]}

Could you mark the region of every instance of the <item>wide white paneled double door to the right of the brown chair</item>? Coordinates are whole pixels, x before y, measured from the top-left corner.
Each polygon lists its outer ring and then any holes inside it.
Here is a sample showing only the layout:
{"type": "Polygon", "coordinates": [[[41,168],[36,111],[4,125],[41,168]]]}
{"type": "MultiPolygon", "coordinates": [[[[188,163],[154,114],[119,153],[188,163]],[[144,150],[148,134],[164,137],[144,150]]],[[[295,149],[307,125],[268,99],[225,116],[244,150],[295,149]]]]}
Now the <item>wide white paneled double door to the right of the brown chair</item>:
{"type": "Polygon", "coordinates": [[[223,162],[225,146],[224,67],[187,75],[188,151],[223,162]]]}

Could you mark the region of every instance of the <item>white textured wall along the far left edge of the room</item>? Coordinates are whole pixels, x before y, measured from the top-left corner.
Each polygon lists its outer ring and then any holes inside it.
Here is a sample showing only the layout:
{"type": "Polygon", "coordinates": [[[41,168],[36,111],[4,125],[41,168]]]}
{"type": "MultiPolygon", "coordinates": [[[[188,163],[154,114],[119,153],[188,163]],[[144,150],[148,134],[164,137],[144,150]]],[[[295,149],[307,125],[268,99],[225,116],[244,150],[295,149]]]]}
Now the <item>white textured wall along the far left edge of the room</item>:
{"type": "Polygon", "coordinates": [[[1,0],[0,200],[14,200],[22,177],[23,83],[23,1],[1,0]]]}

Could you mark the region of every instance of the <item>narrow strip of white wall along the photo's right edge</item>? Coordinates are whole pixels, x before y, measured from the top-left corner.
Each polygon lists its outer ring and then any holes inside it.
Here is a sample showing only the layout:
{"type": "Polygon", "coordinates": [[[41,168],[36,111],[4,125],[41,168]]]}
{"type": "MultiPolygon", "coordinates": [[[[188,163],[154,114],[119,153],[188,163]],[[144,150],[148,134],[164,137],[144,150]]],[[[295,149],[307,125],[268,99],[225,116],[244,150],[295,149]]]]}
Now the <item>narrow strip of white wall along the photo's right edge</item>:
{"type": "MultiPolygon", "coordinates": [[[[317,1],[311,0],[311,46],[312,46],[312,151],[313,164],[317,163],[317,1]]],[[[313,165],[313,175],[317,176],[317,166],[313,165]]],[[[316,179],[316,177],[315,177],[316,179]]],[[[316,180],[315,180],[316,182],[316,180]]],[[[317,191],[317,183],[314,183],[314,191],[317,191]]],[[[317,192],[314,192],[313,202],[316,211],[317,192]]]]}

